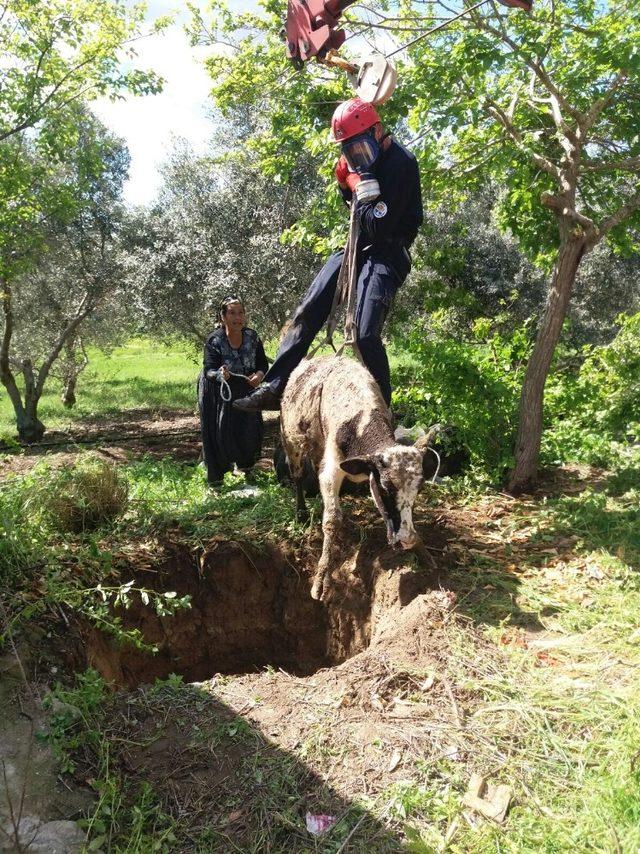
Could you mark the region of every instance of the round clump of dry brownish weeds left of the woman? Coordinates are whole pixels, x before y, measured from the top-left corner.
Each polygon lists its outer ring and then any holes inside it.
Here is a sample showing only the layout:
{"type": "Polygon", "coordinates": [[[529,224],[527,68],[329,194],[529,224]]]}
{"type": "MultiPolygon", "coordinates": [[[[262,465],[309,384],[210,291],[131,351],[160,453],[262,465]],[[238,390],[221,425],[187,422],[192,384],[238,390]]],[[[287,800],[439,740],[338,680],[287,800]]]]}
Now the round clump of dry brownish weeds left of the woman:
{"type": "Polygon", "coordinates": [[[48,491],[51,514],[63,532],[97,528],[122,515],[128,505],[126,479],[113,463],[95,456],[61,469],[48,491]]]}

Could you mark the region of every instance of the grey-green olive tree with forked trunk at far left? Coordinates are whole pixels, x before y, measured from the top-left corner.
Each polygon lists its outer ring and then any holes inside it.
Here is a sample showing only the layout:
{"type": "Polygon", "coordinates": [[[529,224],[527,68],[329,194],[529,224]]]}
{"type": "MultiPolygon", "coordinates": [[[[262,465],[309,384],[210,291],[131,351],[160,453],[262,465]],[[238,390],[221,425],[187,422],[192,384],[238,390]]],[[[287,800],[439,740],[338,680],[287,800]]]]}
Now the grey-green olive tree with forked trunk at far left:
{"type": "MultiPolygon", "coordinates": [[[[64,164],[44,164],[43,186],[37,189],[40,198],[47,192],[64,204],[49,207],[38,224],[37,257],[14,273],[2,295],[0,379],[18,434],[28,442],[44,433],[38,404],[57,360],[64,354],[63,373],[64,361],[76,361],[83,324],[114,298],[122,279],[117,234],[129,155],[85,110],[78,111],[77,122],[76,146],[64,164]]],[[[22,159],[31,158],[37,173],[41,156],[24,140],[21,145],[22,159]]],[[[69,366],[66,373],[71,379],[69,366]]]]}

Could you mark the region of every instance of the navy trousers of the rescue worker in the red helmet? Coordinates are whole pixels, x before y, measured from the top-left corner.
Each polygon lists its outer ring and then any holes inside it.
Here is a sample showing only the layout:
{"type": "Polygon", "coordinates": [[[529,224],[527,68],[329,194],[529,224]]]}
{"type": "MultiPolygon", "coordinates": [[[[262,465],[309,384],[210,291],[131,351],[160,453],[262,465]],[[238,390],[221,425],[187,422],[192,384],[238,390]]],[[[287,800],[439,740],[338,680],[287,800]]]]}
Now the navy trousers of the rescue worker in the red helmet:
{"type": "MultiPolygon", "coordinates": [[[[280,345],[275,362],[265,376],[265,382],[276,394],[282,394],[291,373],[306,356],[311,342],[329,317],[343,254],[340,251],[330,256],[293,316],[291,328],[280,345]]],[[[406,264],[392,264],[371,253],[361,258],[358,266],[358,348],[389,405],[391,379],[389,360],[382,343],[382,327],[395,293],[407,277],[410,262],[407,259],[406,264]]]]}

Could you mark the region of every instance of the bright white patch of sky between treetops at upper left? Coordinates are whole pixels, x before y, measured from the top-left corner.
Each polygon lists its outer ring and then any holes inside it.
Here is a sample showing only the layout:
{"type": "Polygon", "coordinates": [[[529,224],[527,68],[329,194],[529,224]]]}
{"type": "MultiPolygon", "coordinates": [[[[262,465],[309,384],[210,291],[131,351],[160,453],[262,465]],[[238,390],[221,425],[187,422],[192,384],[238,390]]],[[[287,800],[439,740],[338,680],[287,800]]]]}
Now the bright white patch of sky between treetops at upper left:
{"type": "MultiPolygon", "coordinates": [[[[251,0],[232,0],[231,8],[255,7],[251,0]]],[[[141,39],[137,67],[151,68],[165,78],[158,95],[128,97],[122,101],[101,98],[93,108],[102,121],[123,137],[131,154],[125,198],[131,204],[150,202],[159,186],[158,167],[166,158],[176,136],[189,140],[196,151],[204,151],[212,131],[210,79],[203,67],[211,48],[189,45],[182,25],[184,6],[171,0],[151,0],[149,20],[176,13],[176,23],[159,35],[141,39]]]]}

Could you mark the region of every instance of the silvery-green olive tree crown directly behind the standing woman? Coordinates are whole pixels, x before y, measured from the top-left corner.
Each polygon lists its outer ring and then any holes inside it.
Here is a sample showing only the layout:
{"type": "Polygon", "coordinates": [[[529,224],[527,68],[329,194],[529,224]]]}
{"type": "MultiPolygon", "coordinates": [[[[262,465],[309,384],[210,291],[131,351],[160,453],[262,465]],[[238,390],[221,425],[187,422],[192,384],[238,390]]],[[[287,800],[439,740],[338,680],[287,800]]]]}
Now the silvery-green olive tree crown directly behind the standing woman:
{"type": "Polygon", "coordinates": [[[199,346],[221,299],[237,294],[251,324],[272,335],[309,284],[313,253],[280,238],[315,188],[313,170],[302,163],[277,184],[229,144],[227,136],[211,155],[196,156],[179,143],[157,203],[129,221],[127,277],[146,331],[199,346]]]}

